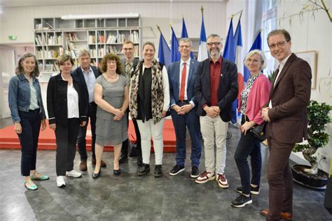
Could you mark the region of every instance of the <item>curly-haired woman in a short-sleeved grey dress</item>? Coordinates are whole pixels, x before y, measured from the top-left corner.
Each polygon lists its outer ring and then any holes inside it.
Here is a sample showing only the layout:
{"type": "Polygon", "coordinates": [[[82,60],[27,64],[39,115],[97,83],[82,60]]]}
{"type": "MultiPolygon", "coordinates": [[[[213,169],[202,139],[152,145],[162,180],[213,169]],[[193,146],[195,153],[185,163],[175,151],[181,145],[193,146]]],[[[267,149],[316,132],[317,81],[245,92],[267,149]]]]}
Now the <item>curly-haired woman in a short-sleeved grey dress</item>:
{"type": "Polygon", "coordinates": [[[96,166],[92,178],[100,176],[100,163],[105,145],[114,147],[115,175],[120,174],[118,159],[122,142],[128,138],[127,117],[129,94],[128,82],[125,76],[120,75],[122,68],[120,58],[113,54],[105,55],[100,66],[102,75],[96,80],[95,103],[97,104],[96,122],[96,166]]]}

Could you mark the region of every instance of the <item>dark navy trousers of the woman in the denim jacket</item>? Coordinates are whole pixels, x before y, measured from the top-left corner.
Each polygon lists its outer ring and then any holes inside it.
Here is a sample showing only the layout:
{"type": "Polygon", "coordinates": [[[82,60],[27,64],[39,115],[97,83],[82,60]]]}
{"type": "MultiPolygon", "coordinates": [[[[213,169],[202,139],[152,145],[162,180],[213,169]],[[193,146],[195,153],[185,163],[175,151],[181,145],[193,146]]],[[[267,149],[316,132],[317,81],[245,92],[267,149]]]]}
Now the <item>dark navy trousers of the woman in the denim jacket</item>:
{"type": "Polygon", "coordinates": [[[41,116],[39,109],[29,112],[18,111],[22,126],[22,134],[18,134],[21,144],[21,174],[30,176],[30,171],[36,169],[36,157],[39,131],[41,129],[41,116]]]}

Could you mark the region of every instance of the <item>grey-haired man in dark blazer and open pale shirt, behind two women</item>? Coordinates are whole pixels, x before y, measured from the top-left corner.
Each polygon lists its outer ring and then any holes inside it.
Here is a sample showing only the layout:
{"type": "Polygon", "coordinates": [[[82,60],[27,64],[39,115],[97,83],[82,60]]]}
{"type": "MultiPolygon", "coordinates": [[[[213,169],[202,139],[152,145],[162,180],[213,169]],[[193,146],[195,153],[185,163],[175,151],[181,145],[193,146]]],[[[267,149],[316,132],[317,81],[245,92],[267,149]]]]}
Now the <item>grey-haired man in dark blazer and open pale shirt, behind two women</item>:
{"type": "MultiPolygon", "coordinates": [[[[72,74],[76,76],[79,80],[79,83],[82,85],[83,89],[83,97],[86,103],[88,103],[88,122],[90,118],[90,127],[91,127],[91,149],[92,149],[92,165],[96,164],[96,156],[95,156],[95,143],[96,143],[96,115],[97,115],[97,104],[95,104],[94,98],[94,90],[95,83],[98,76],[102,73],[100,69],[90,65],[90,52],[88,50],[80,50],[78,52],[78,63],[80,66],[75,69],[72,74]]],[[[77,145],[78,152],[81,155],[81,164],[80,170],[86,171],[87,164],[86,161],[88,159],[88,154],[86,152],[86,130],[88,127],[88,122],[85,124],[85,127],[80,127],[77,136],[77,145]]],[[[102,167],[105,167],[105,162],[102,161],[102,167]]]]}

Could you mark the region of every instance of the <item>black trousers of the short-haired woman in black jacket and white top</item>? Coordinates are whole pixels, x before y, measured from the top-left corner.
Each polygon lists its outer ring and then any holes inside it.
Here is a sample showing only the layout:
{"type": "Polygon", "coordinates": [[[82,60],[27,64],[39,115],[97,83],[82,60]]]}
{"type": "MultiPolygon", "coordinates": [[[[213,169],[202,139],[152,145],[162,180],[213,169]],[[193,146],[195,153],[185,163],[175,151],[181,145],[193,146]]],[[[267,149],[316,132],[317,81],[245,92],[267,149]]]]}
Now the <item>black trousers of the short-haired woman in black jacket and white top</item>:
{"type": "Polygon", "coordinates": [[[66,171],[72,171],[74,169],[76,140],[79,127],[80,120],[78,118],[69,118],[67,127],[57,124],[55,129],[57,142],[57,176],[65,176],[66,171]]]}

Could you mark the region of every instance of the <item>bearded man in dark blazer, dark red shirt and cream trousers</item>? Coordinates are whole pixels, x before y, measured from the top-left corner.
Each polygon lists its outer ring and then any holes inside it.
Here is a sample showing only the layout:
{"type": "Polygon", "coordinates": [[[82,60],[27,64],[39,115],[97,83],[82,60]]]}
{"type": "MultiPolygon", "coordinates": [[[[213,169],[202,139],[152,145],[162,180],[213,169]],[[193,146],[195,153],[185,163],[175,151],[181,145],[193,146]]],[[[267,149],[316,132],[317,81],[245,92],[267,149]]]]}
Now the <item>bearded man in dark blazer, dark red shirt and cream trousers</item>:
{"type": "Polygon", "coordinates": [[[232,117],[232,102],[237,98],[237,67],[221,57],[221,38],[217,34],[207,37],[210,58],[200,62],[195,81],[195,98],[200,115],[200,131],[204,139],[205,169],[195,180],[207,183],[216,179],[219,187],[228,188],[225,176],[226,136],[232,117]],[[216,145],[216,157],[214,157],[216,145]],[[215,160],[216,158],[216,160],[215,160]],[[216,163],[214,163],[216,161],[216,163]]]}

